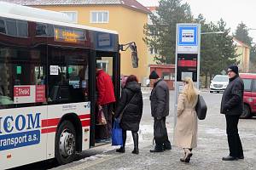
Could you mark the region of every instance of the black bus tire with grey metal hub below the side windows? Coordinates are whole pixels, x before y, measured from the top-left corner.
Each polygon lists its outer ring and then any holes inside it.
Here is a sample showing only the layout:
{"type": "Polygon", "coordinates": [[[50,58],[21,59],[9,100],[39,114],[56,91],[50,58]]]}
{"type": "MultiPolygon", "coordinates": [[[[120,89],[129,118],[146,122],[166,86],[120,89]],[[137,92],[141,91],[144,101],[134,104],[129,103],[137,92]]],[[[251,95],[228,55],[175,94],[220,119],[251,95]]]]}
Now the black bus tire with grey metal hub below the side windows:
{"type": "Polygon", "coordinates": [[[76,131],[73,123],[61,122],[55,136],[55,158],[60,165],[67,164],[75,159],[76,131]]]}

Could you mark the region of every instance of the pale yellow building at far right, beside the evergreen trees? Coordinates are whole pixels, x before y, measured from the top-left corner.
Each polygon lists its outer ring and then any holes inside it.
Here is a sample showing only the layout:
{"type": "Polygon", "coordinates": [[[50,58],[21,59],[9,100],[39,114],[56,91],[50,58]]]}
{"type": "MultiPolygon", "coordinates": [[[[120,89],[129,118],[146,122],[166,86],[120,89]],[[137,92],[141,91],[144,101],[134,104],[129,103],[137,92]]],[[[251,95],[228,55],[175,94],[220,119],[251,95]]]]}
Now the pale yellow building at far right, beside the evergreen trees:
{"type": "Polygon", "coordinates": [[[241,72],[250,71],[250,47],[247,44],[240,42],[236,38],[233,38],[234,44],[236,45],[236,58],[239,61],[239,69],[241,72]]]}

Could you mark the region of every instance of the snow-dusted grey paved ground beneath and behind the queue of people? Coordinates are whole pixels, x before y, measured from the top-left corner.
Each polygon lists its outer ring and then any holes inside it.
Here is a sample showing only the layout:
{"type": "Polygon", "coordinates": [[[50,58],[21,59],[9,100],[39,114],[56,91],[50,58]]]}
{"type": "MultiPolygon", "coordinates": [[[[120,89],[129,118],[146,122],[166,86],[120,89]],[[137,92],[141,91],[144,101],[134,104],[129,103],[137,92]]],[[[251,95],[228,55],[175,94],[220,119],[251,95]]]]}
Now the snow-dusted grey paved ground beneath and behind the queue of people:
{"type": "MultiPolygon", "coordinates": [[[[173,141],[173,91],[170,94],[170,116],[166,119],[169,139],[173,141]]],[[[133,143],[131,134],[127,137],[127,147],[125,154],[115,152],[116,147],[110,144],[85,150],[79,155],[78,161],[70,164],[57,166],[55,161],[44,161],[26,167],[15,169],[52,169],[52,170],[78,170],[78,169],[255,169],[256,168],[256,135],[255,118],[241,119],[239,131],[243,144],[245,159],[241,161],[221,161],[222,156],[229,154],[227,138],[225,134],[225,118],[219,114],[219,106],[222,94],[210,94],[201,92],[207,102],[207,118],[199,121],[198,147],[193,150],[194,156],[189,164],[179,161],[183,150],[173,146],[171,151],[163,153],[150,153],[154,147],[153,139],[153,119],[150,116],[149,93],[143,94],[143,118],[139,131],[140,154],[131,154],[133,143]]]]}

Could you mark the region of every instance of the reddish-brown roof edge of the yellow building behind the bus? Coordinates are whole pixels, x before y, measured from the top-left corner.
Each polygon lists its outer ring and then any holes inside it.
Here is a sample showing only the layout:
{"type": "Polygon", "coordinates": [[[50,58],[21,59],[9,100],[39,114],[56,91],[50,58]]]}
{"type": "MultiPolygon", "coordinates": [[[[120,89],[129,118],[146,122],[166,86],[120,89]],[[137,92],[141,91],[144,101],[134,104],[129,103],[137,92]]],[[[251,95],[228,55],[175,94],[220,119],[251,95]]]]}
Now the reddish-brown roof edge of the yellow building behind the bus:
{"type": "Polygon", "coordinates": [[[61,6],[61,5],[122,5],[149,14],[150,10],[136,0],[0,0],[26,6],[61,6]]]}

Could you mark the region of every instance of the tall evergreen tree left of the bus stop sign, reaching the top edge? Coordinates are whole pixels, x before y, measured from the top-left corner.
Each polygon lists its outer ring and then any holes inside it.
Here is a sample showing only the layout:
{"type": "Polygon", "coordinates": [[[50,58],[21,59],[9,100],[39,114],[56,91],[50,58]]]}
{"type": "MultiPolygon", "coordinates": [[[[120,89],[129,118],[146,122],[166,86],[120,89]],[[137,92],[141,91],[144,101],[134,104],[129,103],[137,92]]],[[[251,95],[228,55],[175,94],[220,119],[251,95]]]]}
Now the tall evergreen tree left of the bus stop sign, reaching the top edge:
{"type": "Polygon", "coordinates": [[[175,62],[176,24],[192,21],[188,3],[182,0],[160,0],[156,14],[150,14],[152,25],[144,26],[143,38],[148,47],[158,51],[154,59],[159,64],[175,62]]]}

